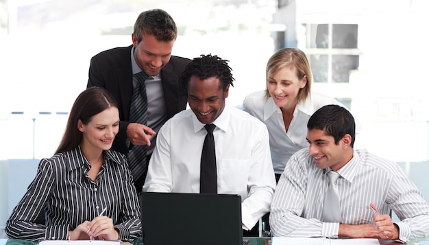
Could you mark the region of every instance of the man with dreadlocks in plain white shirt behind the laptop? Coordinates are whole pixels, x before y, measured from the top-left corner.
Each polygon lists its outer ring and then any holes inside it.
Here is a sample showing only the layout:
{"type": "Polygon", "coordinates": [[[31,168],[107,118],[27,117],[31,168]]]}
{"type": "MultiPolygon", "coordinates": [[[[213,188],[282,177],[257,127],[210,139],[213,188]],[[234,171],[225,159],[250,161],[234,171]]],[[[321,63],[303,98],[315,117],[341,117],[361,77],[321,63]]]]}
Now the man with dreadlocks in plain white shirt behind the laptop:
{"type": "Polygon", "coordinates": [[[204,126],[214,124],[215,192],[240,195],[243,229],[258,231],[255,224],[269,212],[275,189],[269,136],[261,121],[225,106],[233,80],[227,60],[218,56],[201,56],[186,66],[181,82],[190,109],[158,132],[143,191],[200,193],[204,126]]]}

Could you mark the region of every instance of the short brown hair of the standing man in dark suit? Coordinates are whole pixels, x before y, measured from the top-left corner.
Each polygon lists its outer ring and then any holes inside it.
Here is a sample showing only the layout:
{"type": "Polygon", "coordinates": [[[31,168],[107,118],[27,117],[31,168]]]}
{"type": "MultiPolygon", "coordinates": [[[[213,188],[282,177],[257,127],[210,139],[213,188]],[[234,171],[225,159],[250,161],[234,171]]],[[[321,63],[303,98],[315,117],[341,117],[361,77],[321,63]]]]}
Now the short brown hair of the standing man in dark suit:
{"type": "Polygon", "coordinates": [[[177,38],[177,27],[173,18],[164,10],[154,9],[141,12],[134,23],[137,43],[145,34],[154,35],[156,40],[169,42],[177,38]]]}

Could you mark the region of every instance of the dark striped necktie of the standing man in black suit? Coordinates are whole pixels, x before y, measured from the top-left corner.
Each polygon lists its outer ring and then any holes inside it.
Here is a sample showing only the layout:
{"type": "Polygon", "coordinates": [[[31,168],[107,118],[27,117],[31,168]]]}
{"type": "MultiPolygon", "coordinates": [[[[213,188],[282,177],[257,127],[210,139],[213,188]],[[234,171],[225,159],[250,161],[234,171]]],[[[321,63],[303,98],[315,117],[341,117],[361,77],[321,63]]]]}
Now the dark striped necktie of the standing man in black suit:
{"type": "MultiPolygon", "coordinates": [[[[130,122],[147,124],[147,94],[145,80],[147,75],[141,71],[133,75],[136,78],[137,86],[134,88],[130,107],[130,122]]],[[[138,180],[147,172],[146,162],[147,145],[134,145],[128,152],[128,165],[134,181],[138,180]]],[[[140,191],[140,190],[137,190],[140,191]]]]}

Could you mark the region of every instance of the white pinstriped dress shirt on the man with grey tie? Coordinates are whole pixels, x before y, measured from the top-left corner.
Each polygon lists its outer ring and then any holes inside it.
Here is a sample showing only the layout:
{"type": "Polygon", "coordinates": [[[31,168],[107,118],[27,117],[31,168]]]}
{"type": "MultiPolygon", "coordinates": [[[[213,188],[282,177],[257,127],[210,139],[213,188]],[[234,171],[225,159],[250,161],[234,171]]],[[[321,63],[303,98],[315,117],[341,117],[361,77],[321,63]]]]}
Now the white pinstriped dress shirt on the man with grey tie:
{"type": "MultiPolygon", "coordinates": [[[[308,148],[291,157],[271,205],[274,236],[338,237],[339,223],[321,222],[327,170],[316,167],[308,148]]],[[[429,205],[399,165],[354,150],[352,160],[337,172],[342,224],[374,224],[369,207],[373,202],[380,213],[395,211],[403,242],[429,234],[429,205]]]]}

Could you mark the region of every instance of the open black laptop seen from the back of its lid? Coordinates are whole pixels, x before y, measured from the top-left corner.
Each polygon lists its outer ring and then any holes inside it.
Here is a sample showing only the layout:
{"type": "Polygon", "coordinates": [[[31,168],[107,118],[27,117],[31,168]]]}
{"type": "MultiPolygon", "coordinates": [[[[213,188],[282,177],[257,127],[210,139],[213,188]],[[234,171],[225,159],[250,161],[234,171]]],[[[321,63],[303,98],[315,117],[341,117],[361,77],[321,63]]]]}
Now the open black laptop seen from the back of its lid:
{"type": "Polygon", "coordinates": [[[241,197],[140,192],[143,244],[243,245],[241,197]]]}

